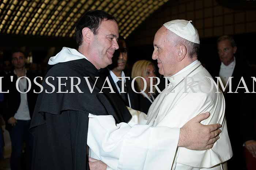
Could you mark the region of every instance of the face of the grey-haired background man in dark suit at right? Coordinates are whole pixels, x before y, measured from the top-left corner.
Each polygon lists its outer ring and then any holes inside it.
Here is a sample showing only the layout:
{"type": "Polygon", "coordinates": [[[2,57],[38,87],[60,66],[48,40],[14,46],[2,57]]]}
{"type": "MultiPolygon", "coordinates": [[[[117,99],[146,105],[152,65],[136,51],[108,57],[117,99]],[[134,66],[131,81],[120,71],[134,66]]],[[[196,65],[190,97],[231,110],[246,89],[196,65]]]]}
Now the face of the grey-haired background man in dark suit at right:
{"type": "Polygon", "coordinates": [[[218,43],[218,54],[219,59],[226,66],[234,61],[234,54],[236,53],[237,47],[232,47],[229,40],[223,40],[218,43]]]}

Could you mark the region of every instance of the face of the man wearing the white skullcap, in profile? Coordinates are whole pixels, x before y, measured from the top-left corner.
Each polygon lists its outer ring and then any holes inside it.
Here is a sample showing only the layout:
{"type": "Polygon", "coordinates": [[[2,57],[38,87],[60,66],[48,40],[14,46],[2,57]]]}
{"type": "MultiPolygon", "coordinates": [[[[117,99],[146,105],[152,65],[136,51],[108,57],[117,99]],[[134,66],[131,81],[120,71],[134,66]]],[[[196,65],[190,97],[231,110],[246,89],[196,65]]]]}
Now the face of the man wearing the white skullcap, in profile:
{"type": "Polygon", "coordinates": [[[177,61],[174,56],[175,47],[168,39],[167,31],[167,28],[162,26],[155,34],[152,59],[157,59],[159,73],[170,77],[176,73],[175,65],[177,61]]]}

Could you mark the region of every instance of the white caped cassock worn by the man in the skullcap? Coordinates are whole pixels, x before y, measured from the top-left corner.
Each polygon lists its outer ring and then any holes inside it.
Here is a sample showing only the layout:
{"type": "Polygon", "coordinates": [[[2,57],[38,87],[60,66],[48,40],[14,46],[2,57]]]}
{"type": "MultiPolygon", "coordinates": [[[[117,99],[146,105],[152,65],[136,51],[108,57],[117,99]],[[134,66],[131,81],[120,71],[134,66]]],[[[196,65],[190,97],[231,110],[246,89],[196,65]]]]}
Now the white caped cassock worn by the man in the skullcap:
{"type": "Polygon", "coordinates": [[[227,161],[233,155],[227,134],[223,94],[218,93],[217,85],[208,71],[200,64],[199,61],[195,61],[193,66],[188,66],[169,77],[171,84],[159,94],[157,101],[151,105],[148,112],[148,124],[155,121],[154,125],[157,127],[181,128],[187,121],[204,112],[210,112],[211,116],[203,120],[202,124],[222,124],[220,139],[210,150],[194,151],[177,148],[173,170],[210,168],[227,161]],[[187,79],[177,85],[196,67],[198,68],[187,79]],[[176,88],[172,91],[174,86],[176,88]],[[158,112],[158,108],[160,110],[157,116],[155,113],[158,112]]]}

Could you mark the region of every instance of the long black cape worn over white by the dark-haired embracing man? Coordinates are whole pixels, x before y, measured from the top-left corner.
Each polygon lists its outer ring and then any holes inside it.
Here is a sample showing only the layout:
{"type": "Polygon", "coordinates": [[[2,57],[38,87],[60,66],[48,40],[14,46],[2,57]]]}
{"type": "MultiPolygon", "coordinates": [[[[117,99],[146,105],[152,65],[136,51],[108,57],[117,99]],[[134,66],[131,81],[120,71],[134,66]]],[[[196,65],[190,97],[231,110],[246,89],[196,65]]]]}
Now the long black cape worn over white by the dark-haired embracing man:
{"type": "MultiPolygon", "coordinates": [[[[92,88],[95,77],[100,77],[98,70],[86,59],[50,66],[30,125],[34,135],[32,170],[89,170],[86,157],[89,113],[113,115],[116,123],[131,119],[116,93],[99,93],[104,80],[98,78],[91,93],[84,77],[89,77],[92,88]],[[67,80],[57,77],[67,77],[67,80]],[[75,93],[63,93],[71,92],[70,77],[80,78],[78,87],[83,93],[75,87],[75,93]],[[59,80],[65,85],[59,86],[59,80]],[[53,88],[49,84],[55,87],[53,93],[50,93],[53,88]]],[[[74,85],[78,84],[78,78],[73,78],[74,85]]]]}

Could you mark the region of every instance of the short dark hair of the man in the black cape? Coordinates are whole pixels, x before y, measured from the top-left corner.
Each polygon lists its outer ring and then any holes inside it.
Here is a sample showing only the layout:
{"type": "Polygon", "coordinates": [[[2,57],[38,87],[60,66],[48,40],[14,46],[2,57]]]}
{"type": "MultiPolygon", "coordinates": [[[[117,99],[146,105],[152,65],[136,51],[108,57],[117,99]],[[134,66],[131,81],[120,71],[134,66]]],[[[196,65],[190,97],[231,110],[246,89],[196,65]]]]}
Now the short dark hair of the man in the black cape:
{"type": "Polygon", "coordinates": [[[98,34],[99,26],[103,20],[114,20],[117,22],[114,16],[102,10],[88,11],[80,18],[76,24],[76,43],[80,46],[83,42],[82,30],[87,27],[93,31],[94,35],[98,34]]]}

